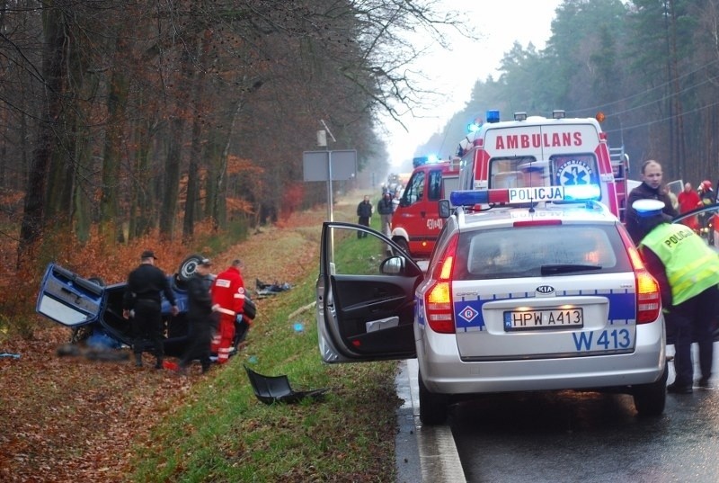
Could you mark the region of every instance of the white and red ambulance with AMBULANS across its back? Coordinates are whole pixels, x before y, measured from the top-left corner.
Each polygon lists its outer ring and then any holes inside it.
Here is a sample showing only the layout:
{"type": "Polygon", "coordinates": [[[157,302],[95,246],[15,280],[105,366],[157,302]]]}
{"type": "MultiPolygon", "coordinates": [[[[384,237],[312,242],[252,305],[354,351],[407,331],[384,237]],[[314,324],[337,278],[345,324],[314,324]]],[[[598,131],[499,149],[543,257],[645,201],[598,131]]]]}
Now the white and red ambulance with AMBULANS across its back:
{"type": "Polygon", "coordinates": [[[460,190],[585,186],[619,219],[624,218],[628,157],[608,148],[607,135],[595,118],[552,118],[516,112],[500,121],[488,111],[486,122],[462,139],[460,190]]]}

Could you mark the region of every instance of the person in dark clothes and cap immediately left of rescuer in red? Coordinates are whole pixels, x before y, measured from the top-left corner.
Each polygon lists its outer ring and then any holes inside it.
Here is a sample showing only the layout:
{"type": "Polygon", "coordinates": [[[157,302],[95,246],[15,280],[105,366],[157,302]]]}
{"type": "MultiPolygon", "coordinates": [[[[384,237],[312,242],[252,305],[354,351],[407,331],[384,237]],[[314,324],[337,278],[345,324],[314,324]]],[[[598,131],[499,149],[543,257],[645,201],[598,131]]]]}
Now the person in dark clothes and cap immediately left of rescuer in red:
{"type": "Polygon", "coordinates": [[[209,344],[212,342],[217,326],[215,313],[212,311],[212,297],[209,293],[209,271],[212,262],[203,259],[197,265],[195,273],[187,281],[187,320],[189,323],[188,337],[190,342],[182,354],[179,370],[185,372],[195,359],[200,360],[202,372],[209,371],[209,344]]]}

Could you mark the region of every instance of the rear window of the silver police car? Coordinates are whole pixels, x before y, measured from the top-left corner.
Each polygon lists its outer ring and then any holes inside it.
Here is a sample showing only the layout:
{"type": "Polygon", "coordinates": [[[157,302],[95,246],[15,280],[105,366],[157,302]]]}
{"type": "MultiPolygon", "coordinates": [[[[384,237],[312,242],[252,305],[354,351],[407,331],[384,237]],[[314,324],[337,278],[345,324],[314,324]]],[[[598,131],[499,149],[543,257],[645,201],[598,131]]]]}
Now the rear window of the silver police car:
{"type": "Polygon", "coordinates": [[[552,225],[461,234],[456,280],[621,273],[632,270],[613,226],[552,225]]]}

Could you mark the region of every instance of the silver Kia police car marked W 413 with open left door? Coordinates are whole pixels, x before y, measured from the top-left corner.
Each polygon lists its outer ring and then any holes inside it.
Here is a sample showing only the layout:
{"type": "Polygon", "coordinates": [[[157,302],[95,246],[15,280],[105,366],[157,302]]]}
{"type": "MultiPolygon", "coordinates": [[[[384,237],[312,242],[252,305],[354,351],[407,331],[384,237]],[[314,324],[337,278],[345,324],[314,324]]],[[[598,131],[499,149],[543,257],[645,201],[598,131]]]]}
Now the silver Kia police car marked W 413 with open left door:
{"type": "Polygon", "coordinates": [[[426,425],[443,423],[462,398],[528,390],[625,392],[639,414],[660,415],[659,287],[617,217],[591,201],[596,190],[453,192],[459,208],[450,216],[441,201],[448,218],[426,274],[402,252],[379,255],[392,242],[377,231],[325,222],[316,285],[324,362],[416,357],[426,425]]]}

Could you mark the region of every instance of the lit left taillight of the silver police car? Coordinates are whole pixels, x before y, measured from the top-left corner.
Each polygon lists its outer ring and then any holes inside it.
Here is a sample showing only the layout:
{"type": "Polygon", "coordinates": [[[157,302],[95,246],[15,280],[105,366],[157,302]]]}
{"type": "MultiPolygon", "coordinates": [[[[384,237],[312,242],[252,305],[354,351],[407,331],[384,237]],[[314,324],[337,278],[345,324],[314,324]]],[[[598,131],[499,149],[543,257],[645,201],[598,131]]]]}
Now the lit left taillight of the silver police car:
{"type": "Polygon", "coordinates": [[[424,292],[427,324],[439,334],[454,334],[452,314],[452,269],[457,254],[457,235],[452,237],[439,264],[431,274],[431,286],[424,292]]]}

